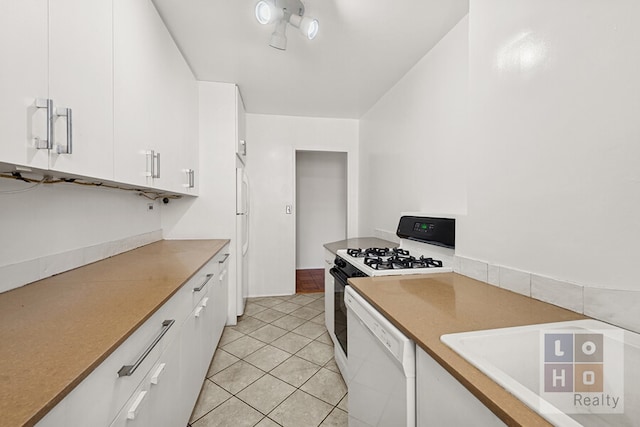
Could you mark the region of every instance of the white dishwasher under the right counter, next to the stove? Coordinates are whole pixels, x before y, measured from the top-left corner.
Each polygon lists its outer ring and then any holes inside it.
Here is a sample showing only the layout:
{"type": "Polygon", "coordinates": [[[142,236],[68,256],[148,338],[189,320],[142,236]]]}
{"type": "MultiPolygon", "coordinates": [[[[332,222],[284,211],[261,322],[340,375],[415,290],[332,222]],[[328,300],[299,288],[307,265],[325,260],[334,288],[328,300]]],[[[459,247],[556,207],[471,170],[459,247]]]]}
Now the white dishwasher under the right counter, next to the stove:
{"type": "Polygon", "coordinates": [[[345,289],[349,427],[416,425],[416,347],[351,286],[345,289]]]}

